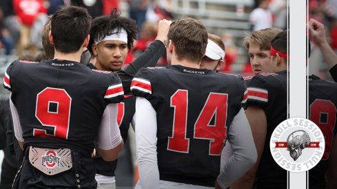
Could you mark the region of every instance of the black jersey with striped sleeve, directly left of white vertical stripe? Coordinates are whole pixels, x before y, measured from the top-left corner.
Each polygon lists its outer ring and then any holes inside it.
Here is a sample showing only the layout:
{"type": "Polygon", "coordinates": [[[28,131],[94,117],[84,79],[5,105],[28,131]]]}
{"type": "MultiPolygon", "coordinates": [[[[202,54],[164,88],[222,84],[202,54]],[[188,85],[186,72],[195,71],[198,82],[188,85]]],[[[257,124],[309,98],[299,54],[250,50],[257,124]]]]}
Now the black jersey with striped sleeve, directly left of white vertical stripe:
{"type": "Polygon", "coordinates": [[[287,171],[278,166],[269,151],[270,137],[280,122],[287,120],[287,71],[259,74],[249,80],[246,106],[265,111],[267,135],[256,173],[256,188],[287,188],[287,171]]]}

